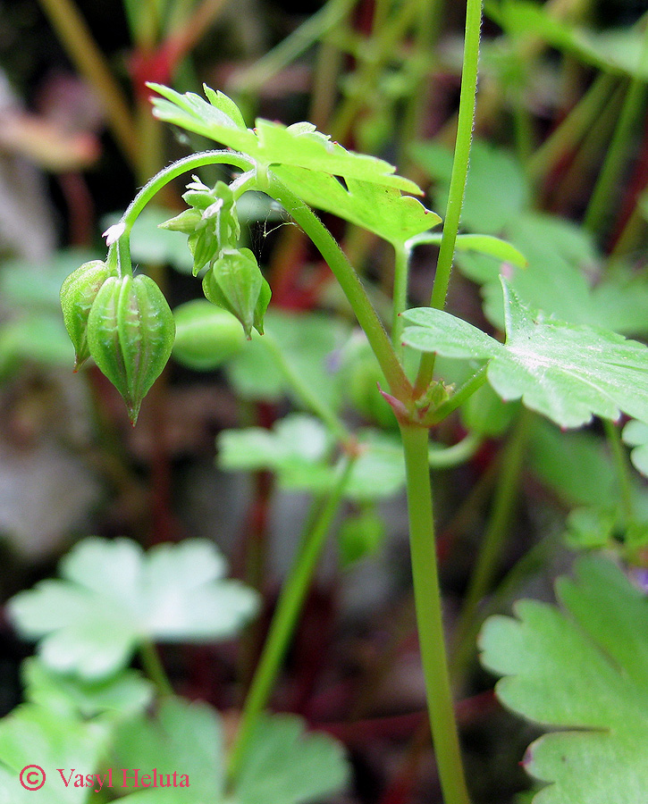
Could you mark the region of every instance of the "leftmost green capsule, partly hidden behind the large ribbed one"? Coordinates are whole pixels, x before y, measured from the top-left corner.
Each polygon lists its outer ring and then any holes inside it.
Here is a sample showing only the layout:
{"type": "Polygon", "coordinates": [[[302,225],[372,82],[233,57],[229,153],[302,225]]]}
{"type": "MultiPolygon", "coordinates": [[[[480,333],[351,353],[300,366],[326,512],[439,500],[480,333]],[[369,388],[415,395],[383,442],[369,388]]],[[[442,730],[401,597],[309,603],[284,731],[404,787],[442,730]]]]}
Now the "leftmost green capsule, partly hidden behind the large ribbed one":
{"type": "Polygon", "coordinates": [[[61,287],[63,322],[72,340],[75,352],[74,371],[90,356],[88,349],[88,314],[99,289],[105,281],[116,276],[116,268],[109,268],[102,260],[92,260],[72,271],[61,287]]]}

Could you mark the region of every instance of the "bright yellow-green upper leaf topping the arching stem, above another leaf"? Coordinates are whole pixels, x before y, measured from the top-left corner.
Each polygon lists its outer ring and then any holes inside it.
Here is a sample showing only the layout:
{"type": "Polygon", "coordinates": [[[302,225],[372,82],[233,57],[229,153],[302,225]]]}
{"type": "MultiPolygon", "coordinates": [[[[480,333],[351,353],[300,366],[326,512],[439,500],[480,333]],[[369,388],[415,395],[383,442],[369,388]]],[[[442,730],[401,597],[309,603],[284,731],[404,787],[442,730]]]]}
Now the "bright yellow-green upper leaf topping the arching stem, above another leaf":
{"type": "Polygon", "coordinates": [[[390,163],[348,151],[332,142],[327,135],[316,131],[311,123],[294,123],[286,127],[281,123],[259,119],[254,131],[242,129],[231,119],[230,110],[223,111],[223,105],[217,109],[194,93],[181,95],[160,84],[148,86],[164,98],[152,99],[153,112],[159,120],[214,139],[251,156],[259,163],[308,168],[316,173],[314,180],[319,180],[319,173],[332,173],[345,180],[369,181],[421,195],[420,188],[413,181],[396,175],[396,169],[390,163]]]}

